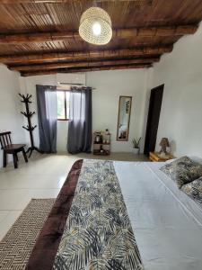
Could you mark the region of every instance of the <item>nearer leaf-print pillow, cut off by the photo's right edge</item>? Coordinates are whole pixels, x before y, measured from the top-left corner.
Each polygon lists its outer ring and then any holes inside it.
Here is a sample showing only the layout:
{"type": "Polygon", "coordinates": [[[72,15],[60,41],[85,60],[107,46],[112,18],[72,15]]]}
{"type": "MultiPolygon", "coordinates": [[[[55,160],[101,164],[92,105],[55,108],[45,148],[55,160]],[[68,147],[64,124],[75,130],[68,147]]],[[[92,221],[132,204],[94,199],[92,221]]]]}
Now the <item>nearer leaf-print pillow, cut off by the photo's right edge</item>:
{"type": "Polygon", "coordinates": [[[191,199],[202,205],[202,177],[189,184],[184,184],[181,190],[188,194],[191,199]]]}

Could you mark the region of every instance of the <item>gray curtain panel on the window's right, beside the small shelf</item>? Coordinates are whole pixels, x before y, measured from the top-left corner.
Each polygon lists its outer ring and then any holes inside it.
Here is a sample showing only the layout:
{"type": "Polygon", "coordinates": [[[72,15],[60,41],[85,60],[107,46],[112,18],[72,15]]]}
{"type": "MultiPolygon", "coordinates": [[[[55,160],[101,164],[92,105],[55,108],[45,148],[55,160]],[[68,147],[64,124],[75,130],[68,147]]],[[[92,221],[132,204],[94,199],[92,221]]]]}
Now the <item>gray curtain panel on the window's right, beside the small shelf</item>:
{"type": "Polygon", "coordinates": [[[71,154],[91,153],[92,88],[72,87],[70,91],[67,150],[71,154]]]}

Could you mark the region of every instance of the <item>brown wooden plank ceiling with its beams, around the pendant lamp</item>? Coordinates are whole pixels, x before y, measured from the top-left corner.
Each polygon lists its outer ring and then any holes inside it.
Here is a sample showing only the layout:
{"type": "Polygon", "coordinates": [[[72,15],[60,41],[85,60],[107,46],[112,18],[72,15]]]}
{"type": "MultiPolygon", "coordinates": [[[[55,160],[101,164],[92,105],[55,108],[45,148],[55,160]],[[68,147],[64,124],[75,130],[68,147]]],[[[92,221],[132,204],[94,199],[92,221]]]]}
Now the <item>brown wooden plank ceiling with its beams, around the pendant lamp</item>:
{"type": "Polygon", "coordinates": [[[201,0],[1,0],[0,62],[22,76],[151,67],[201,20],[201,0]],[[105,46],[78,35],[81,15],[95,4],[112,21],[105,46]]]}

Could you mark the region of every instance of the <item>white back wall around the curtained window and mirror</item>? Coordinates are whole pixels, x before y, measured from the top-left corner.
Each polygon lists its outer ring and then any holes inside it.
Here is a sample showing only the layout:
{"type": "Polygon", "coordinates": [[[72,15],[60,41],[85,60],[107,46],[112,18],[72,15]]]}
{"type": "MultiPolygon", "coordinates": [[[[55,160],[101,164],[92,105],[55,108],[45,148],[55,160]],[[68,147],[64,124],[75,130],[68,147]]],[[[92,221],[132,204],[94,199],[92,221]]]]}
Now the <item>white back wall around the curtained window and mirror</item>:
{"type": "MultiPolygon", "coordinates": [[[[37,112],[36,85],[56,85],[57,82],[85,83],[95,87],[92,91],[92,130],[110,129],[112,133],[112,151],[131,151],[131,140],[143,134],[145,117],[145,81],[146,69],[113,70],[89,72],[78,75],[50,75],[21,77],[22,93],[32,94],[31,110],[37,112]],[[119,112],[119,95],[131,95],[132,109],[129,140],[116,141],[119,112]]],[[[38,124],[37,113],[31,119],[38,124]]],[[[29,141],[29,137],[27,137],[29,141]]],[[[57,151],[66,151],[67,122],[57,121],[57,151]]],[[[34,131],[34,140],[39,145],[39,130],[34,131]]]]}

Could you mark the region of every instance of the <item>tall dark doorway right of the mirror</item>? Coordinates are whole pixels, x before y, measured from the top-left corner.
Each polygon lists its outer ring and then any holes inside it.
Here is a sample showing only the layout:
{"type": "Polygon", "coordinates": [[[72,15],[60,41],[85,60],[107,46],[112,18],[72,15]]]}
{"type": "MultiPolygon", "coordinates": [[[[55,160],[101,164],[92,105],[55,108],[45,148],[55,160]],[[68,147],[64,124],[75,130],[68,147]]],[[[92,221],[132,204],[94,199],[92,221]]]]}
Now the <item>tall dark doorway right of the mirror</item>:
{"type": "Polygon", "coordinates": [[[159,118],[162,108],[163,88],[164,85],[160,85],[151,90],[145,134],[145,155],[149,155],[149,152],[154,152],[155,150],[159,118]]]}

